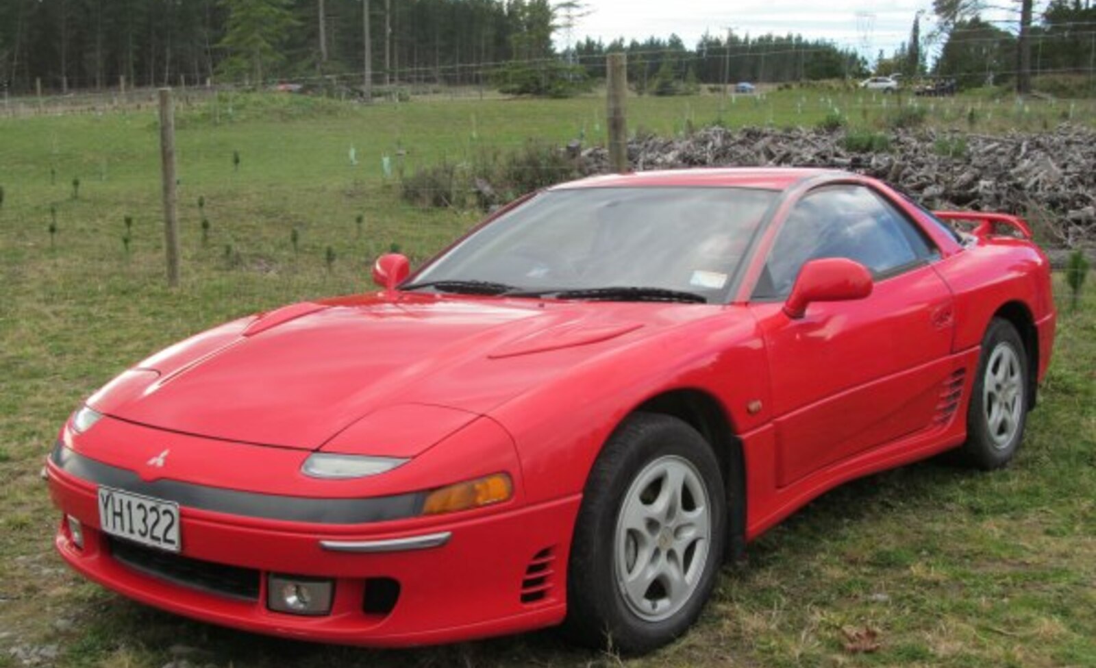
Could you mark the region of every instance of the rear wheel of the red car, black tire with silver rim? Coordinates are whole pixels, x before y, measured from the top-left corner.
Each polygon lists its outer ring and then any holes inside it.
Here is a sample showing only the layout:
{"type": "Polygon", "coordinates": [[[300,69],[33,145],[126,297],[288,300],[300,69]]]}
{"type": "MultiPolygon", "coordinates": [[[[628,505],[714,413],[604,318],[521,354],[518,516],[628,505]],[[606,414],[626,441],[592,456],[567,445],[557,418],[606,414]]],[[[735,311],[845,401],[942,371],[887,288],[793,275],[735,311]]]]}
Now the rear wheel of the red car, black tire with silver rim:
{"type": "Polygon", "coordinates": [[[1024,440],[1028,410],[1028,359],[1012,322],[994,318],[982,339],[973,394],[967,410],[962,463],[984,471],[1000,468],[1024,440]]]}

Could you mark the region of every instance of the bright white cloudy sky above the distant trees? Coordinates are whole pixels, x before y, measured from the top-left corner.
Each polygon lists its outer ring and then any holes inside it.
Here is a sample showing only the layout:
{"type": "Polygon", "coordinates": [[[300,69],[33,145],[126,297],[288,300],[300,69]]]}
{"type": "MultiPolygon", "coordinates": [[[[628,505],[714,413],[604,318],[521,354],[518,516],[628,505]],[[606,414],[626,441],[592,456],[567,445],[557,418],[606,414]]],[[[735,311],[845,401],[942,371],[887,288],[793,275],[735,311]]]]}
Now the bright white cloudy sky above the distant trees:
{"type": "MultiPolygon", "coordinates": [[[[855,47],[874,58],[887,54],[910,37],[917,10],[925,10],[922,34],[934,25],[932,0],[582,0],[589,15],[580,18],[574,41],[586,36],[606,44],[616,37],[642,41],[676,33],[689,48],[705,32],[760,35],[800,33],[804,37],[831,39],[855,47]]],[[[560,46],[567,36],[557,34],[560,46]]]]}

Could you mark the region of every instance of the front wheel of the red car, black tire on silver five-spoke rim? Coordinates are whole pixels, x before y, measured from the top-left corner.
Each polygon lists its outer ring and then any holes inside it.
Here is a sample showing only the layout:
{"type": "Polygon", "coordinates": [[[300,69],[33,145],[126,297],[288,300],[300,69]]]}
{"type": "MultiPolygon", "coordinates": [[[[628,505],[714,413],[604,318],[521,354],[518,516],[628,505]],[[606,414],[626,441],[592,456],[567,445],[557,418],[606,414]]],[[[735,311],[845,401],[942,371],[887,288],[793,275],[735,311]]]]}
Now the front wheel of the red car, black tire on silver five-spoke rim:
{"type": "Polygon", "coordinates": [[[719,575],[727,496],[708,442],[677,418],[637,414],[591,471],[568,566],[566,630],[643,653],[696,621],[719,575]]]}

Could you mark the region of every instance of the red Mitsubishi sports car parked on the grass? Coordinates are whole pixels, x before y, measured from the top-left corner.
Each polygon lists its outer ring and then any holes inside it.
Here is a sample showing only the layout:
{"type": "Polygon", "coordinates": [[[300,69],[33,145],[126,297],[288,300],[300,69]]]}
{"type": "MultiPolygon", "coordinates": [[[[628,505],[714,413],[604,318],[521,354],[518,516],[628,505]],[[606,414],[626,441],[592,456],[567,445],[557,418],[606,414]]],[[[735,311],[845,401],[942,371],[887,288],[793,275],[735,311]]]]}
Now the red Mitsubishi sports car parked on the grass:
{"type": "Polygon", "coordinates": [[[551,188],[410,278],[380,258],[379,292],[241,318],[112,381],[48,457],[57,550],[261,633],[562,623],[643,652],[826,489],[1013,457],[1054,339],[1029,239],[838,171],[551,188]]]}

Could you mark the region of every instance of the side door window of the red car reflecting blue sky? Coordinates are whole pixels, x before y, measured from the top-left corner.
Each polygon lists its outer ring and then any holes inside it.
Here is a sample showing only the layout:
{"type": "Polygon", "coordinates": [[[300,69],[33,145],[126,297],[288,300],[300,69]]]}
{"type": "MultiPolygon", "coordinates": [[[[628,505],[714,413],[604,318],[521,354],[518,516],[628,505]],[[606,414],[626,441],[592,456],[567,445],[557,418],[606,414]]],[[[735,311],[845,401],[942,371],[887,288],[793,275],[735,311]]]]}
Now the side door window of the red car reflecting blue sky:
{"type": "Polygon", "coordinates": [[[933,254],[902,214],[863,185],[831,185],[808,193],[788,215],[754,291],[755,298],[791,292],[809,260],[847,258],[879,279],[933,254]]]}

